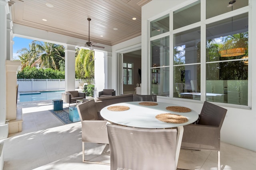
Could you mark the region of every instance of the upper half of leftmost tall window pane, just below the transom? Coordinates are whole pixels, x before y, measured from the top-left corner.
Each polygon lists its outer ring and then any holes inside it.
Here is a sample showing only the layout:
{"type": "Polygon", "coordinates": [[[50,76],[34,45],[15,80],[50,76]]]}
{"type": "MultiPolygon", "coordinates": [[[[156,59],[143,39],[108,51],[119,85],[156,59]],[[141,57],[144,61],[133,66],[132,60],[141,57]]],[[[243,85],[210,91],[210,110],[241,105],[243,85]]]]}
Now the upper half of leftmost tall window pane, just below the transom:
{"type": "Polygon", "coordinates": [[[170,65],[169,36],[151,41],[151,67],[170,65]]]}

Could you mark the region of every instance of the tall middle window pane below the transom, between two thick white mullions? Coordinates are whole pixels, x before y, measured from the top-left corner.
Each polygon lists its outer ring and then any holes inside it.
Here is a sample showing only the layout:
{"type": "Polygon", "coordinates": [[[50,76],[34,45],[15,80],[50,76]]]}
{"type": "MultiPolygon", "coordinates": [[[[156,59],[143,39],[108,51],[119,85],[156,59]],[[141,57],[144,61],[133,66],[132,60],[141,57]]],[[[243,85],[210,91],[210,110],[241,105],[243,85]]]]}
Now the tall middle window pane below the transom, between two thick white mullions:
{"type": "Polygon", "coordinates": [[[200,100],[200,27],[174,34],[173,96],[200,100]]]}

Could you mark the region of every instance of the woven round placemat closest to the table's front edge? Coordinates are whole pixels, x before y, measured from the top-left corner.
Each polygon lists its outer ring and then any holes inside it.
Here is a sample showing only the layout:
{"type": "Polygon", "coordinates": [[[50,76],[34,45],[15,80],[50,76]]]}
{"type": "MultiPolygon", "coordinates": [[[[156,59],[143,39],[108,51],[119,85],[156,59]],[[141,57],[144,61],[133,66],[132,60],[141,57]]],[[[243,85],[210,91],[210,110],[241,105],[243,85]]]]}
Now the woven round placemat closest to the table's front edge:
{"type": "Polygon", "coordinates": [[[188,118],[182,115],[175,115],[172,113],[162,113],[156,115],[156,119],[166,122],[166,123],[185,123],[188,121],[188,118]]]}

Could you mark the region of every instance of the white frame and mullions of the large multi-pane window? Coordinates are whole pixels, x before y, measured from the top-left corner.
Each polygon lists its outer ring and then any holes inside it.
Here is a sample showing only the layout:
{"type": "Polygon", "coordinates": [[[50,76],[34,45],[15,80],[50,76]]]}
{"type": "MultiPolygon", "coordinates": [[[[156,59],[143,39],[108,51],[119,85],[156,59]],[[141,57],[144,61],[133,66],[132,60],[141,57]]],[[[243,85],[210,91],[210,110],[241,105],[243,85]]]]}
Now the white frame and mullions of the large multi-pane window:
{"type": "MultiPolygon", "coordinates": [[[[190,4],[194,3],[196,1],[192,1],[190,4]]],[[[209,23],[213,23],[216,21],[220,21],[220,20],[224,20],[226,18],[230,18],[232,16],[237,16],[240,14],[244,14],[248,12],[248,56],[252,56],[252,6],[250,5],[251,0],[249,0],[249,5],[245,6],[243,8],[231,11],[231,12],[227,12],[225,14],[221,14],[219,16],[215,16],[209,19],[206,19],[206,1],[205,0],[201,0],[201,21],[197,22],[197,23],[193,23],[178,29],[173,30],[173,12],[183,8],[189,4],[183,4],[183,6],[178,6],[178,8],[172,9],[169,11],[169,17],[170,17],[170,31],[166,32],[166,33],[162,33],[160,35],[156,35],[154,37],[150,37],[150,31],[148,31],[148,47],[151,46],[151,41],[156,40],[156,39],[160,39],[162,37],[166,37],[166,36],[170,36],[170,72],[172,72],[172,74],[170,74],[170,97],[164,97],[164,96],[159,96],[160,98],[170,98],[170,99],[174,99],[174,100],[180,100],[180,101],[189,101],[189,102],[204,102],[206,101],[206,25],[209,23]],[[198,100],[188,100],[188,99],[182,99],[182,98],[174,98],[173,97],[173,35],[175,33],[179,33],[182,31],[186,31],[189,29],[193,29],[196,27],[200,27],[201,28],[201,62],[199,64],[201,64],[201,99],[200,101],[198,100]],[[203,48],[204,47],[204,48],[203,48]]],[[[157,18],[160,18],[162,16],[165,16],[166,13],[157,16],[157,18]]],[[[154,18],[151,18],[148,20],[149,24],[148,26],[148,30],[150,30],[150,22],[154,21],[157,19],[156,16],[154,18]]],[[[151,55],[151,51],[148,50],[148,53],[151,55]]],[[[151,57],[148,58],[149,63],[151,60],[151,57]]],[[[209,63],[209,62],[207,62],[209,63]]],[[[242,105],[235,105],[235,104],[228,104],[228,103],[216,103],[219,106],[228,106],[228,107],[235,107],[235,108],[241,108],[241,109],[251,109],[252,108],[252,63],[251,63],[251,57],[248,57],[248,106],[242,106],[242,105]]],[[[194,63],[193,63],[194,64],[194,63]]],[[[150,69],[152,69],[152,67],[149,67],[150,69]]],[[[150,71],[148,71],[150,72],[150,71]]],[[[150,77],[150,76],[149,76],[150,77]]],[[[150,84],[150,80],[148,80],[148,83],[150,84]]]]}

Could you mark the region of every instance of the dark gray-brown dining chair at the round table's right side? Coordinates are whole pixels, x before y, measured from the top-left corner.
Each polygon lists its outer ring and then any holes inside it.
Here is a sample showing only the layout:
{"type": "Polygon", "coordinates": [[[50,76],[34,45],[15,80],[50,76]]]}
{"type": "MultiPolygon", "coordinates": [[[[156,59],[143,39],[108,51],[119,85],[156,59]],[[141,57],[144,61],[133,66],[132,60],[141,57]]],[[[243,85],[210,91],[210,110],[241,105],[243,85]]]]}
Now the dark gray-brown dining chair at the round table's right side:
{"type": "Polygon", "coordinates": [[[182,149],[213,150],[218,152],[220,170],[220,129],[227,109],[204,102],[196,124],[183,126],[182,149]]]}

